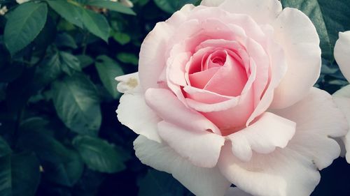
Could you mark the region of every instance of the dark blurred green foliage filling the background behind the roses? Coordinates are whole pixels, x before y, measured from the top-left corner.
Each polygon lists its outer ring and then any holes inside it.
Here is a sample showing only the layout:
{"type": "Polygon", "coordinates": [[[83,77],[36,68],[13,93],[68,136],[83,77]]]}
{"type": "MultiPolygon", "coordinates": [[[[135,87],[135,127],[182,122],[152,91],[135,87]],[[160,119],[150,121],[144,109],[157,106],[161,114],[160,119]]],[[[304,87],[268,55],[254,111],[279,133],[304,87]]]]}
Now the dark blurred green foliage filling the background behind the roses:
{"type": "MultiPolygon", "coordinates": [[[[0,195],[192,195],[134,156],[137,135],[116,117],[114,77],[137,71],[156,22],[200,1],[18,2],[0,0],[0,195]]],[[[348,84],[332,47],[337,31],[350,29],[350,1],[282,3],[309,15],[320,34],[316,86],[333,93],[348,84]]],[[[321,174],[313,195],[350,195],[344,158],[321,174]]]]}

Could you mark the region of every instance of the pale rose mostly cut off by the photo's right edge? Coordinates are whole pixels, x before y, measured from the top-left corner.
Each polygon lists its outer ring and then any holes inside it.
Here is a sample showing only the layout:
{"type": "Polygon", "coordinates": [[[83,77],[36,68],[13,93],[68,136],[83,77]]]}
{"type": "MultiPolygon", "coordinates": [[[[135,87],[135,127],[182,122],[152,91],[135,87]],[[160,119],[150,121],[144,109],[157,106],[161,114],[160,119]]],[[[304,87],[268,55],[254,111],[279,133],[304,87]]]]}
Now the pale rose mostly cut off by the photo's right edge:
{"type": "MultiPolygon", "coordinates": [[[[339,33],[339,39],[334,47],[334,56],[346,80],[350,81],[350,31],[339,33]]],[[[339,106],[340,110],[344,112],[350,124],[350,85],[344,86],[342,89],[335,92],[333,97],[335,103],[339,106]]],[[[344,146],[348,151],[348,153],[346,153],[346,160],[350,163],[350,131],[342,138],[342,142],[342,144],[345,144],[344,146]]]]}

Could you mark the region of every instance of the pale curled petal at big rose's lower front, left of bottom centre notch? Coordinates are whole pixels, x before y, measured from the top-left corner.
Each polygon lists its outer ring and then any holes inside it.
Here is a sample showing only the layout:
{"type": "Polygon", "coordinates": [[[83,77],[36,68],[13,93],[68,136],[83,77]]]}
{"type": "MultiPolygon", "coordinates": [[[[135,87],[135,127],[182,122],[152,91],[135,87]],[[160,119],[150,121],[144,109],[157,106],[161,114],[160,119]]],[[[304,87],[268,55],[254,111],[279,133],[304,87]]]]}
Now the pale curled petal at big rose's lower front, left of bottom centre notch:
{"type": "Polygon", "coordinates": [[[158,133],[174,151],[198,167],[215,167],[225,142],[221,135],[186,130],[166,121],[158,123],[158,133]]]}

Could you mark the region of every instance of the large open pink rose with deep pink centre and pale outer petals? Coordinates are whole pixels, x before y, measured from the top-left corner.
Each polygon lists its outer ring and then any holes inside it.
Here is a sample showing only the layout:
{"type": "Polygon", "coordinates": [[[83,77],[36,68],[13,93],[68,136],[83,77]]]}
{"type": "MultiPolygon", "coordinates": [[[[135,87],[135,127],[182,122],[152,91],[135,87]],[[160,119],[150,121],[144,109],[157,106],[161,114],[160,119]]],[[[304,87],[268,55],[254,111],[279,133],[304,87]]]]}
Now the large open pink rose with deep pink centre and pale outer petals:
{"type": "Polygon", "coordinates": [[[159,22],[139,73],[117,77],[118,119],[142,163],[195,195],[309,195],[346,134],[314,25],[277,0],[204,0],[159,22]]]}

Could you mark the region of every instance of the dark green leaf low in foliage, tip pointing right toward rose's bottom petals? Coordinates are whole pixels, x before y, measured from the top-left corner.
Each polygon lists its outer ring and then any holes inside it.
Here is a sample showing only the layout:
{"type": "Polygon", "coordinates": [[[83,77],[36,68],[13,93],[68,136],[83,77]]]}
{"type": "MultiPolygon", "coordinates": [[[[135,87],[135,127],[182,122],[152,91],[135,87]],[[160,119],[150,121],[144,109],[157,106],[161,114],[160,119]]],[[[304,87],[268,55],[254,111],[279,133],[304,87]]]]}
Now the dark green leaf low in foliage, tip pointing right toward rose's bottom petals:
{"type": "Polygon", "coordinates": [[[115,146],[96,137],[78,136],[73,146],[79,151],[86,165],[93,170],[106,173],[120,172],[125,169],[125,156],[115,146]]]}

